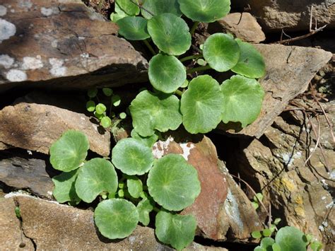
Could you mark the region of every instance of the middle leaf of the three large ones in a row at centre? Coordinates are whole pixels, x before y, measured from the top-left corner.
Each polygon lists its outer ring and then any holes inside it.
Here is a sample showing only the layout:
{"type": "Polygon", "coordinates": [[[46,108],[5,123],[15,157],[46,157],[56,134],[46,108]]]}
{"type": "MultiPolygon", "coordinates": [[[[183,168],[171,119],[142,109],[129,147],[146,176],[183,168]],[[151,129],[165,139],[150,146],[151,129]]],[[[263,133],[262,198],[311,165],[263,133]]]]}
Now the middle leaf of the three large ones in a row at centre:
{"type": "Polygon", "coordinates": [[[221,122],[223,95],[211,76],[193,78],[181,104],[182,124],[192,134],[210,132],[221,122]]]}

